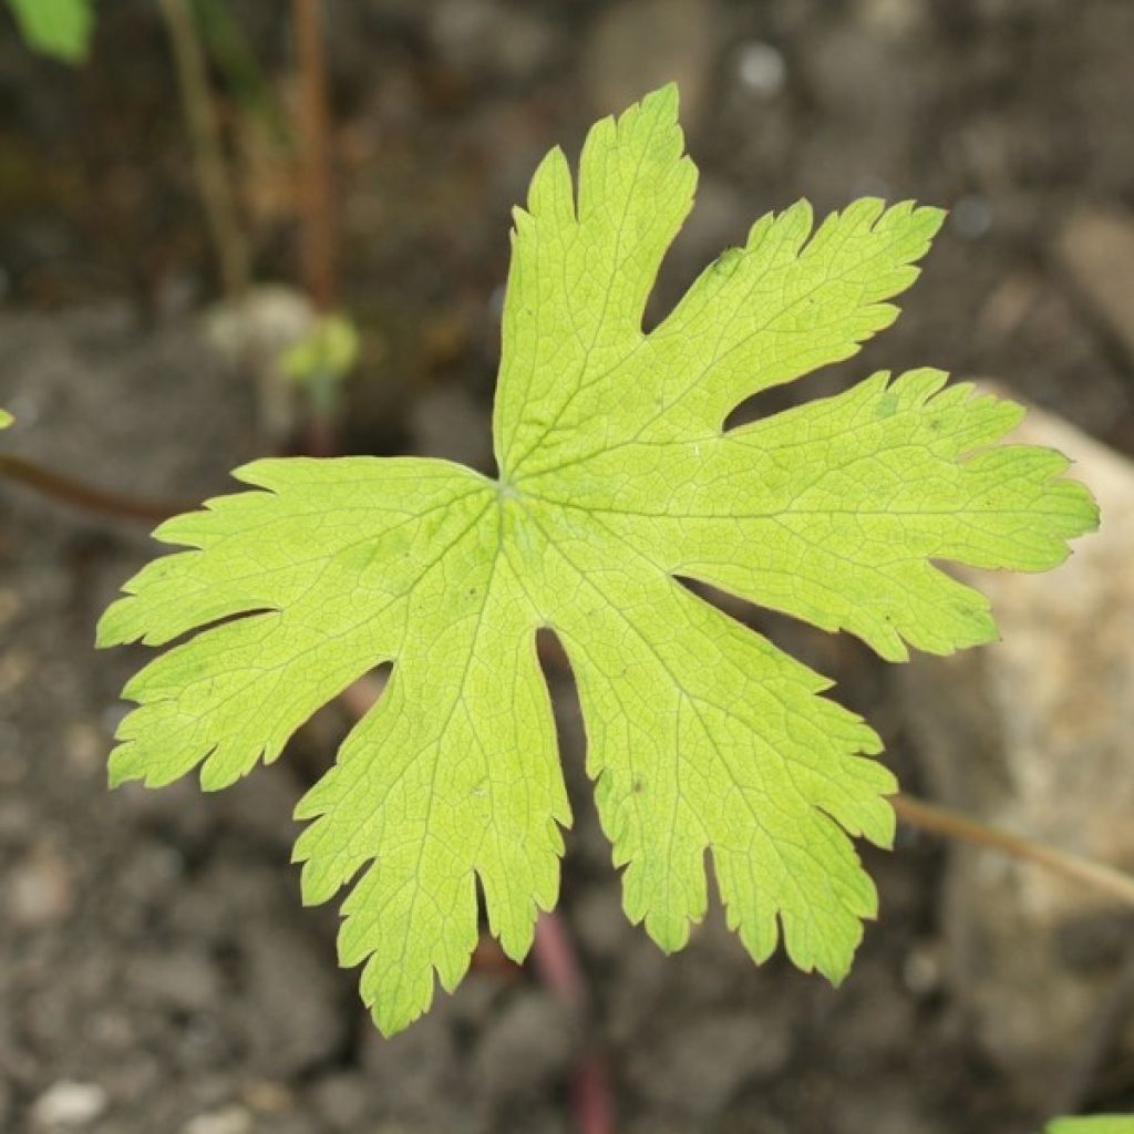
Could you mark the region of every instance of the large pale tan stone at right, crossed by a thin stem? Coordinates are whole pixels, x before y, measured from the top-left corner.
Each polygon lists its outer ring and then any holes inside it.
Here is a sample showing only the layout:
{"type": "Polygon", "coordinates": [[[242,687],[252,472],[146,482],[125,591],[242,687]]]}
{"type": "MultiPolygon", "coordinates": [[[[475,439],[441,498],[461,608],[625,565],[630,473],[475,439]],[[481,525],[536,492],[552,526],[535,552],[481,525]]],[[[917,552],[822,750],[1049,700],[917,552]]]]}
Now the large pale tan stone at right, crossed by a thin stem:
{"type": "MultiPolygon", "coordinates": [[[[1101,530],[1051,573],[957,570],[991,600],[1002,641],[905,668],[916,754],[939,802],[1132,870],[1134,465],[1036,409],[1014,439],[1073,458],[1101,530]]],[[[1102,941],[1109,924],[1128,942],[1134,915],[1089,887],[964,846],[951,848],[942,903],[945,978],[980,1046],[1030,1105],[1058,1099],[1067,1053],[1098,1025],[1123,960],[1122,948],[1099,955],[1075,941],[1102,941]]]]}

